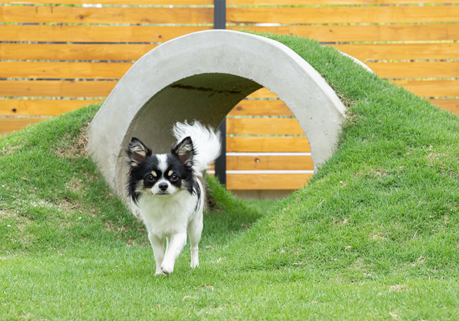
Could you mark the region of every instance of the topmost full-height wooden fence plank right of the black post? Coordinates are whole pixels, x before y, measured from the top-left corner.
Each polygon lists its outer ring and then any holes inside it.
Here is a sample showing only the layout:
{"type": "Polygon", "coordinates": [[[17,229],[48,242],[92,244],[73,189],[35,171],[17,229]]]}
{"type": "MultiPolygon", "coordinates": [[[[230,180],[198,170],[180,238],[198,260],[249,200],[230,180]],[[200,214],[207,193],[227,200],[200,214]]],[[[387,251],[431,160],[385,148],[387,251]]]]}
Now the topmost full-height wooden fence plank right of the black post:
{"type": "Polygon", "coordinates": [[[227,23],[457,22],[458,6],[228,7],[227,23]]]}

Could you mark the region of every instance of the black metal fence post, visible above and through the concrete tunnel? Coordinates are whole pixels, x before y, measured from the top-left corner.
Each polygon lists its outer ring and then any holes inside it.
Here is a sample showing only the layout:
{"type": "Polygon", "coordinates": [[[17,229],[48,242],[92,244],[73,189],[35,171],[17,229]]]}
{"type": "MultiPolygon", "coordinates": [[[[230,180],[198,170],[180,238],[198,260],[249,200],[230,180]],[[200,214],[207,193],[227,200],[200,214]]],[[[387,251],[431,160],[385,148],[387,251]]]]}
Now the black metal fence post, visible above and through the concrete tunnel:
{"type": "MultiPolygon", "coordinates": [[[[226,0],[214,0],[214,29],[226,29],[226,0]]],[[[221,132],[221,154],[215,159],[215,176],[226,184],[226,118],[218,129],[221,132]]]]}

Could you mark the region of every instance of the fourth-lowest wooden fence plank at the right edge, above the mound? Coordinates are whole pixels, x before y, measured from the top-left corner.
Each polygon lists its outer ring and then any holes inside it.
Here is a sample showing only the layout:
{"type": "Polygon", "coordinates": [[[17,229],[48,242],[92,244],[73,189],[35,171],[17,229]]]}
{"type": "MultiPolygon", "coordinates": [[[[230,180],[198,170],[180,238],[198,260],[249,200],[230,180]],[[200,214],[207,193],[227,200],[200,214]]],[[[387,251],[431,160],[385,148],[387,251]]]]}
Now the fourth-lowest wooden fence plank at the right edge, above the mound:
{"type": "Polygon", "coordinates": [[[454,43],[368,43],[331,45],[359,60],[458,59],[459,42],[454,43]]]}

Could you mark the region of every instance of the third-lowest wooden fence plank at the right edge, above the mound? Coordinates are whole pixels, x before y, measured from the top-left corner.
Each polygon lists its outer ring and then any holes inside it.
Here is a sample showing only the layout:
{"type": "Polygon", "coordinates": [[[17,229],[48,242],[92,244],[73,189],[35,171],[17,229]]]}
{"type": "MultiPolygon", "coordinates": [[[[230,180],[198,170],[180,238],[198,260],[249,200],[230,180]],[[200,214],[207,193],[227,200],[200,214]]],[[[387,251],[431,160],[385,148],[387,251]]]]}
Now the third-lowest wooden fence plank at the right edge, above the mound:
{"type": "Polygon", "coordinates": [[[459,78],[459,62],[366,63],[384,78],[459,78]]]}

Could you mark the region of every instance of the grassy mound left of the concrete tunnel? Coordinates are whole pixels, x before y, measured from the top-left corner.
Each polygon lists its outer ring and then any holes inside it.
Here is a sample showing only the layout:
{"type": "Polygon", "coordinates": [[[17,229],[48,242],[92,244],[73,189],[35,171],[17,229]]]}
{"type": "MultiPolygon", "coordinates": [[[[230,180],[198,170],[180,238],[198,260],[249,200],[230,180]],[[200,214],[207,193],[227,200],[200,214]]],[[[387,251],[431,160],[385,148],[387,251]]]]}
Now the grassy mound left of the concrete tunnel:
{"type": "Polygon", "coordinates": [[[141,237],[140,225],[86,154],[85,128],[97,109],[89,106],[0,141],[2,253],[141,237]]]}

